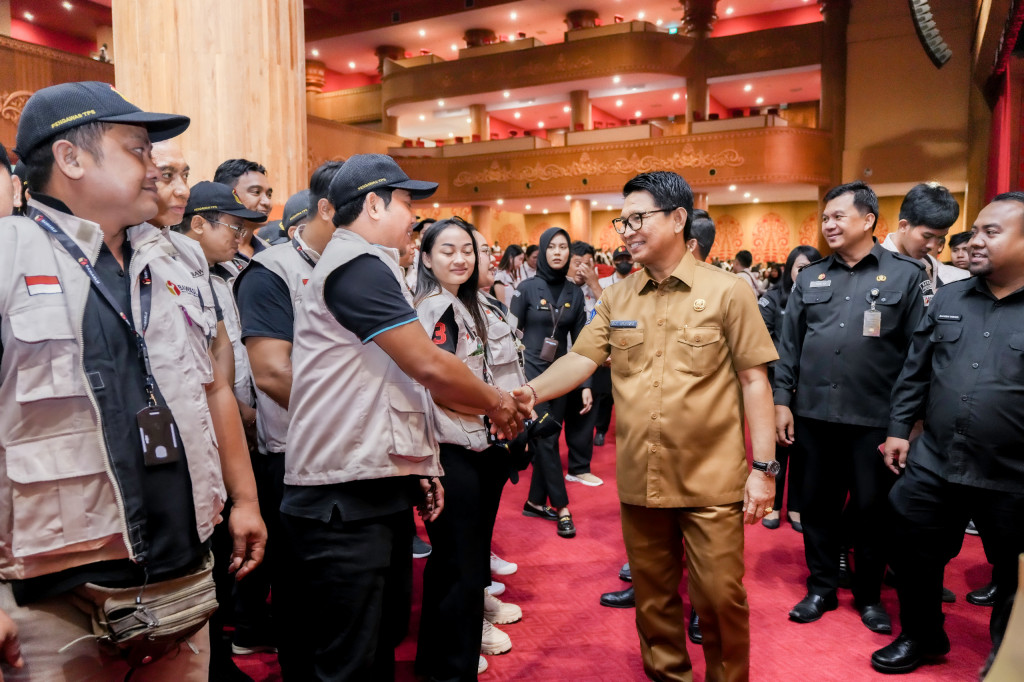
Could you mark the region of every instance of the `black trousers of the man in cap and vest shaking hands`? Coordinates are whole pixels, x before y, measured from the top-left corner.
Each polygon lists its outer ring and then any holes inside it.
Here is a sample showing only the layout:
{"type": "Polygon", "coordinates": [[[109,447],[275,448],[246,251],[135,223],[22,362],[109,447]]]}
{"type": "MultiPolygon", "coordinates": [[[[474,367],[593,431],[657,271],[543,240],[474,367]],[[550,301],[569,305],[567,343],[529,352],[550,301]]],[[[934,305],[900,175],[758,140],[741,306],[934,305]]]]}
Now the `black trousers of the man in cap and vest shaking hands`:
{"type": "Polygon", "coordinates": [[[291,581],[284,680],[394,679],[394,647],[409,630],[412,512],[343,521],[282,513],[291,581]],[[294,601],[293,601],[294,600],[294,601]]]}

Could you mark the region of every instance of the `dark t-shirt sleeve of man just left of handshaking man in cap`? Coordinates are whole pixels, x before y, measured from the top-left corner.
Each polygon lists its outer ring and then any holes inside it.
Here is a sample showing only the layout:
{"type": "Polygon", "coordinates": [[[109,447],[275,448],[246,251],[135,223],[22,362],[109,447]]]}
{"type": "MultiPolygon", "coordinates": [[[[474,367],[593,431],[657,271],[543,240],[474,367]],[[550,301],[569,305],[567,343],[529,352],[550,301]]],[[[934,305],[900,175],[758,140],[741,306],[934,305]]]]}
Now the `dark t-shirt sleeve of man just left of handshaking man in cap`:
{"type": "Polygon", "coordinates": [[[242,338],[263,336],[292,342],[295,310],[288,285],[270,268],[253,261],[234,292],[242,318],[242,338]]]}

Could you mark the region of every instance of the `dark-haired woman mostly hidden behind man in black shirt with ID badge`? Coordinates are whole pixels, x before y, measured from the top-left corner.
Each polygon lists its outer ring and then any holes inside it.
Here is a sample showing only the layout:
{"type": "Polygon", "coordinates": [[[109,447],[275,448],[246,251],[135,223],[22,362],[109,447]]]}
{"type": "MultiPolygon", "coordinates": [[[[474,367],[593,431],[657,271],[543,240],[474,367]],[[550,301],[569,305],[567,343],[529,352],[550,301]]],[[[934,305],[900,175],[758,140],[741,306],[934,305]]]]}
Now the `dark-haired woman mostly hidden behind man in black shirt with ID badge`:
{"type": "MultiPolygon", "coordinates": [[[[771,334],[771,340],[775,342],[776,348],[778,347],[779,333],[782,331],[785,304],[790,301],[790,293],[793,291],[793,283],[797,280],[797,273],[807,265],[820,259],[821,254],[814,247],[806,245],[797,247],[790,252],[790,256],[785,259],[785,267],[782,269],[779,286],[769,289],[765,292],[764,296],[758,299],[758,305],[761,307],[761,316],[764,317],[765,325],[768,327],[768,333],[771,334]]],[[[775,377],[772,365],[768,366],[768,380],[774,383],[775,377]]],[[[788,468],[790,498],[785,507],[785,514],[790,523],[793,524],[793,529],[803,532],[804,528],[800,524],[800,488],[797,486],[800,481],[799,472],[794,471],[795,467],[786,466],[790,464],[790,449],[776,445],[775,461],[781,467],[778,475],[775,476],[775,504],[772,506],[772,509],[775,511],[765,515],[761,519],[761,523],[766,528],[774,530],[782,522],[782,501],[785,499],[785,471],[788,468]]]]}

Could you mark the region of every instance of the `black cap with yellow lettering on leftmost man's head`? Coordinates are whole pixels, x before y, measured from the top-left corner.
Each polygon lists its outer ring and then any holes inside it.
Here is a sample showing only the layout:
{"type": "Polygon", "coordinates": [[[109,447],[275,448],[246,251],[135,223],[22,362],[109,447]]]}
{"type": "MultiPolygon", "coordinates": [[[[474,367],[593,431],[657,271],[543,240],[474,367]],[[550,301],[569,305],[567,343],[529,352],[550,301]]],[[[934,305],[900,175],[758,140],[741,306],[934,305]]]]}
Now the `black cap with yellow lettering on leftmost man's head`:
{"type": "Polygon", "coordinates": [[[108,83],[61,83],[29,97],[17,124],[15,152],[24,159],[50,137],[95,121],[142,126],[154,142],[176,137],[188,127],[187,116],[143,112],[108,83]]]}

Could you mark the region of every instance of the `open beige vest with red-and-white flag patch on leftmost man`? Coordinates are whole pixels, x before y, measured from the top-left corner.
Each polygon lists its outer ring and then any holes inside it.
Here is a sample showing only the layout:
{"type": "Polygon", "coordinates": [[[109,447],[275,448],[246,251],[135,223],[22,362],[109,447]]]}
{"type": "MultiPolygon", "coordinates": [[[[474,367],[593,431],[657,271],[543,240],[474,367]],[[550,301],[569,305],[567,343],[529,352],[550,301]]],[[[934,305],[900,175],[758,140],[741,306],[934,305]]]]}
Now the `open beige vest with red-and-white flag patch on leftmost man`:
{"type": "MultiPolygon", "coordinates": [[[[96,258],[102,242],[97,224],[32,205],[96,258]]],[[[213,378],[207,348],[216,326],[206,262],[201,252],[178,248],[147,223],[129,228],[128,236],[132,314],[141,319],[139,274],[148,265],[153,308],[145,337],[153,373],[180,426],[197,530],[206,540],[225,499],[204,389],[213,378]]],[[[82,365],[89,279],[55,240],[20,217],[0,220],[0,578],[132,558],[120,488],[82,365]],[[29,286],[40,282],[48,284],[29,286]]]]}

